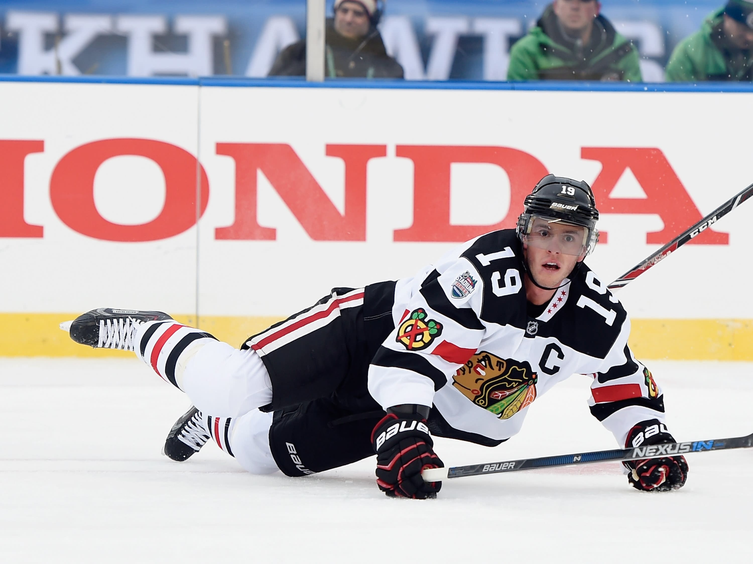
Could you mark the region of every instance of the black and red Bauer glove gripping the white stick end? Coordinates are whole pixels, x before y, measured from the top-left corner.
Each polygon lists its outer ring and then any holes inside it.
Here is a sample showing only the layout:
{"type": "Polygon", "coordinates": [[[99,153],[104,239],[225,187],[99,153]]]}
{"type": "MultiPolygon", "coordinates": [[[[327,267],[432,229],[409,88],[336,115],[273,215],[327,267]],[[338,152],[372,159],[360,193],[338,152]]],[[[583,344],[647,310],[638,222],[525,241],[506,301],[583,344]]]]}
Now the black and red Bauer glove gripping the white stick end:
{"type": "Polygon", "coordinates": [[[424,482],[424,468],[444,468],[426,426],[428,407],[398,405],[371,432],[377,453],[377,486],[389,497],[434,498],[441,482],[424,482]]]}

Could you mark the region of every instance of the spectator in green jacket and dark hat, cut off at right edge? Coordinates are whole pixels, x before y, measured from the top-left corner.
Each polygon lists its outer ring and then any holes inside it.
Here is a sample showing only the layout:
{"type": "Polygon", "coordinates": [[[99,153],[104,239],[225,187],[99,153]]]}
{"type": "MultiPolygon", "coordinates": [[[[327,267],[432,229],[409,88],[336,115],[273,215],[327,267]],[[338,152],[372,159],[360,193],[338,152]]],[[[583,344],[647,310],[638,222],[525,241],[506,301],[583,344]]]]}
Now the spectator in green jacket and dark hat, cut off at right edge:
{"type": "Polygon", "coordinates": [[[666,66],[667,81],[753,80],[753,2],[730,0],[684,38],[666,66]]]}

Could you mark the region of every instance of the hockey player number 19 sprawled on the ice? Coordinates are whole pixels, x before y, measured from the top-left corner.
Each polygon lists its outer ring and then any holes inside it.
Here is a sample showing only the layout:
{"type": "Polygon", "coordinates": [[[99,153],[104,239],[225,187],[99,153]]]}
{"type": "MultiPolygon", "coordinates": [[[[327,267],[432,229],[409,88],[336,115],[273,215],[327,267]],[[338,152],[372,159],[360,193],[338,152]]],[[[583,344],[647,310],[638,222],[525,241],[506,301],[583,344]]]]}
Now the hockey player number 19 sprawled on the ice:
{"type": "MultiPolygon", "coordinates": [[[[590,410],[620,446],[674,442],[662,392],[627,346],[630,321],[585,264],[599,212],[585,182],[548,175],[516,229],[479,236],[416,276],[334,288],[240,349],[161,312],[95,309],[73,340],[130,349],[196,406],[165,444],[212,440],[245,470],[303,476],[377,455],[387,495],[434,497],[431,435],[494,447],[538,395],[593,377],[590,410]]],[[[626,462],[645,491],[681,487],[682,456],[626,462]]]]}

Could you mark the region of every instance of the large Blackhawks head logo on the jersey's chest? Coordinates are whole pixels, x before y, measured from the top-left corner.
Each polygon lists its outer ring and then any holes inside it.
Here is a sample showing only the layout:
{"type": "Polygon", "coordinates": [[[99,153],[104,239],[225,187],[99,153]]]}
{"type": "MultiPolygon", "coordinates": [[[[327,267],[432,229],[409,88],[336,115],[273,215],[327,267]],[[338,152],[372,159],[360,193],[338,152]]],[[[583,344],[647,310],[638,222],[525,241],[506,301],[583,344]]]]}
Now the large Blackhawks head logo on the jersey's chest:
{"type": "Polygon", "coordinates": [[[478,407],[510,419],[536,399],[538,376],[528,362],[503,360],[481,351],[459,367],[453,386],[478,407]]]}

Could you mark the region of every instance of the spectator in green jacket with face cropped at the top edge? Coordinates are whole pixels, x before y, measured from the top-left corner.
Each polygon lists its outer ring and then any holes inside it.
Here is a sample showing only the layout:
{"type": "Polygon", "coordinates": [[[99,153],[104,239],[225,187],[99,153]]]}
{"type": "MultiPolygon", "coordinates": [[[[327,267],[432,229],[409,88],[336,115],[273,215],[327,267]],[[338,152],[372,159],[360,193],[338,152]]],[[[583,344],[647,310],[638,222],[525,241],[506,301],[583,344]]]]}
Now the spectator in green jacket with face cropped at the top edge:
{"type": "Polygon", "coordinates": [[[510,50],[508,81],[641,81],[638,50],[596,0],[554,0],[510,50]]]}

